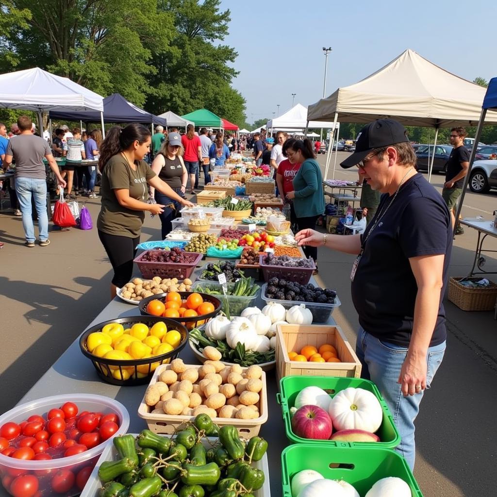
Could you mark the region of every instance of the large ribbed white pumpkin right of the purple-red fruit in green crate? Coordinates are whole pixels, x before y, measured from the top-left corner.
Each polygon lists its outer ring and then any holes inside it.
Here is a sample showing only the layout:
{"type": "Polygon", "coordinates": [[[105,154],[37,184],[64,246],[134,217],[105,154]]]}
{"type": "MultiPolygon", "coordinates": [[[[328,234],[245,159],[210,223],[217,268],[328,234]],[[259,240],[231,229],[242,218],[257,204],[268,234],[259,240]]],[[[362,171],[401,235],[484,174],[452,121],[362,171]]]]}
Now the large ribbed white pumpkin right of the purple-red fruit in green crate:
{"type": "Polygon", "coordinates": [[[335,430],[360,429],[374,433],[383,411],[375,395],[363,388],[346,388],[331,399],[328,409],[335,430]]]}

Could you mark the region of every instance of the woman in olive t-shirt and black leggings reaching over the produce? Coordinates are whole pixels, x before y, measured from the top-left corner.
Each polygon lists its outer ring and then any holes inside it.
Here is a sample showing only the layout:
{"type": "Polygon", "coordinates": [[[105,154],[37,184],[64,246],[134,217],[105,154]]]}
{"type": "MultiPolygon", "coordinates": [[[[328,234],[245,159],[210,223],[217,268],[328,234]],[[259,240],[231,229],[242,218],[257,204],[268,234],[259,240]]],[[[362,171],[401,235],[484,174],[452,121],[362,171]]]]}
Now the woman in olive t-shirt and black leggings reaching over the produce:
{"type": "Polygon", "coordinates": [[[114,269],[111,298],[133,274],[133,259],[145,211],[161,214],[164,210],[162,204],[147,203],[148,184],[183,205],[193,205],[175,193],[143,160],[150,143],[150,131],[141,124],[132,123],[124,129],[111,128],[100,146],[98,167],[102,173],[102,207],[97,229],[114,269]]]}

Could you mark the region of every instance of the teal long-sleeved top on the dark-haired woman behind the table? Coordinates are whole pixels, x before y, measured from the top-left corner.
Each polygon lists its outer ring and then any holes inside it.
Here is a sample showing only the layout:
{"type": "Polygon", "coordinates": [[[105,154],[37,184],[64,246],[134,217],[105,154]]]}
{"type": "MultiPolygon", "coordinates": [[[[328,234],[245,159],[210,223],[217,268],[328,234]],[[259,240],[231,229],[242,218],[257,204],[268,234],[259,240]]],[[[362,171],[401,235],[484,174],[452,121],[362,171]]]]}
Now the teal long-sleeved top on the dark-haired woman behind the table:
{"type": "Polygon", "coordinates": [[[323,175],[315,159],[302,163],[293,178],[293,189],[293,208],[297,217],[321,216],[325,212],[323,175]]]}

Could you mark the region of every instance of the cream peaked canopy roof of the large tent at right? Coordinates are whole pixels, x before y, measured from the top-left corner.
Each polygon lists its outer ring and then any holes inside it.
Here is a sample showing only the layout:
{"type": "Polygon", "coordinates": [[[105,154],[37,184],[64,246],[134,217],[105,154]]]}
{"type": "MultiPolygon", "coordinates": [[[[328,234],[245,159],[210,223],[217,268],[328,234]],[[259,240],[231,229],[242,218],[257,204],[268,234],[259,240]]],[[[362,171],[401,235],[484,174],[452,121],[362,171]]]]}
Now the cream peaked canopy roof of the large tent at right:
{"type": "MultiPolygon", "coordinates": [[[[371,76],[310,105],[307,119],[328,121],[336,112],[341,122],[392,117],[406,126],[476,126],[485,91],[406,50],[371,76]]],[[[497,122],[497,112],[488,112],[486,122],[497,122]]]]}

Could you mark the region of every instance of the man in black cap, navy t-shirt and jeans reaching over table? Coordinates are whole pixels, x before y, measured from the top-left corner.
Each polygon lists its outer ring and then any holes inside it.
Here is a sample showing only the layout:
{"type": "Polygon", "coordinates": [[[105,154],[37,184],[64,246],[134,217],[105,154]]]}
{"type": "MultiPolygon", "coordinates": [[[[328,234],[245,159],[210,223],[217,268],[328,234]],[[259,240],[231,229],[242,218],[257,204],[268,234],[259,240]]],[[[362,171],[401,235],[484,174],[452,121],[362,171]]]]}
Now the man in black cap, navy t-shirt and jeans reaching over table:
{"type": "Polygon", "coordinates": [[[442,304],[452,248],[450,214],[441,195],[415,169],[404,127],[379,119],[362,128],[342,167],[383,193],[362,235],[303,230],[299,245],[356,255],[352,300],[359,315],[356,352],[362,377],[385,398],[402,441],[397,450],[414,468],[414,419],[445,352],[442,304]]]}

